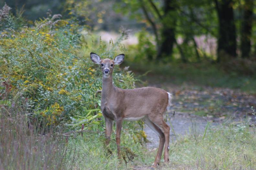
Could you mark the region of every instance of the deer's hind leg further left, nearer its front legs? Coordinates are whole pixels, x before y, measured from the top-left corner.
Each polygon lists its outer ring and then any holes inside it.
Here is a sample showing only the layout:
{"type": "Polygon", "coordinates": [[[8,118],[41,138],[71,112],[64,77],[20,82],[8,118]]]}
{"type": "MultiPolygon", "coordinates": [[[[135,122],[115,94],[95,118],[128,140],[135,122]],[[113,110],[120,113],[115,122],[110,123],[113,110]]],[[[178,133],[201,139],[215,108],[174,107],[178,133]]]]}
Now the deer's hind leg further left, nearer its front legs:
{"type": "Polygon", "coordinates": [[[161,155],[162,155],[162,151],[163,151],[163,146],[164,146],[164,141],[165,141],[165,137],[163,132],[161,131],[161,129],[155,125],[149,118],[148,116],[145,116],[142,119],[146,125],[148,125],[150,127],[150,129],[152,129],[158,136],[159,136],[159,148],[157,151],[157,155],[155,158],[155,162],[153,163],[152,167],[156,167],[157,165],[159,165],[160,160],[161,160],[161,155]]]}

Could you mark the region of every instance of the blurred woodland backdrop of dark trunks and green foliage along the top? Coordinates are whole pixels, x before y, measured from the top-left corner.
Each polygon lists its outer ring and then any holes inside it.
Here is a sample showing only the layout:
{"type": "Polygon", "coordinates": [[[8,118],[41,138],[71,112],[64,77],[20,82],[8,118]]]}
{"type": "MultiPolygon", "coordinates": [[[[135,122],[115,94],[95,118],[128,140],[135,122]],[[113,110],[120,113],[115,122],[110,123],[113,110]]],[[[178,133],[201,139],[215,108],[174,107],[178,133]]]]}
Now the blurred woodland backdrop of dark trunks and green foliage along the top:
{"type": "Polygon", "coordinates": [[[14,13],[23,9],[32,21],[50,10],[90,31],[131,29],[138,39],[126,46],[135,55],[131,61],[255,60],[254,0],[8,0],[7,5],[14,13]]]}

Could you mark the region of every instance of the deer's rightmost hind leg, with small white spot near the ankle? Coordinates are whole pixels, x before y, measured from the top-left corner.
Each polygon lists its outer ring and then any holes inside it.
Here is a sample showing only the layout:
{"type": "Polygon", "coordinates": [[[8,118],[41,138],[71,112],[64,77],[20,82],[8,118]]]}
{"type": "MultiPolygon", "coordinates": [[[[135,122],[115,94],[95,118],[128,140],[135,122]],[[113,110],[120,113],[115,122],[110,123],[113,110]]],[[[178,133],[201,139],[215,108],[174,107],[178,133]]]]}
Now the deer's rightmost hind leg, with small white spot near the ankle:
{"type": "Polygon", "coordinates": [[[165,149],[164,149],[164,162],[169,162],[169,141],[170,141],[170,127],[164,122],[163,115],[159,117],[150,117],[149,119],[159,128],[165,137],[165,149]]]}

